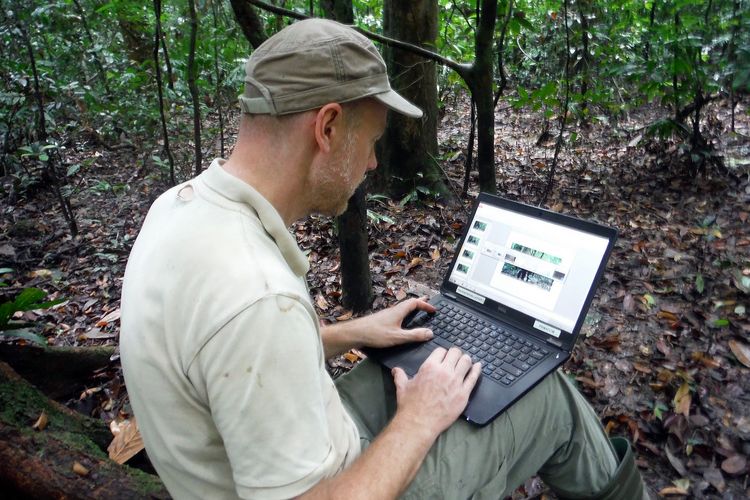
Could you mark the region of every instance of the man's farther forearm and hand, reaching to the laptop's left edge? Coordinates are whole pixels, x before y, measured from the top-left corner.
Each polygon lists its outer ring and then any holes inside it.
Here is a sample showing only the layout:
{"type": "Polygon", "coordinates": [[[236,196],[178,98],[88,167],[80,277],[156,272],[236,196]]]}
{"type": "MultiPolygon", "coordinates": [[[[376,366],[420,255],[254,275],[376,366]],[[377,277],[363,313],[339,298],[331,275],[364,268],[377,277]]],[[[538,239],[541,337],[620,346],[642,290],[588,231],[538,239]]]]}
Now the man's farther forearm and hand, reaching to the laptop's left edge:
{"type": "Polygon", "coordinates": [[[363,318],[321,327],[325,357],[347,352],[353,347],[390,347],[430,340],[432,331],[427,328],[401,328],[406,315],[415,309],[435,312],[435,308],[424,299],[409,299],[363,318]]]}

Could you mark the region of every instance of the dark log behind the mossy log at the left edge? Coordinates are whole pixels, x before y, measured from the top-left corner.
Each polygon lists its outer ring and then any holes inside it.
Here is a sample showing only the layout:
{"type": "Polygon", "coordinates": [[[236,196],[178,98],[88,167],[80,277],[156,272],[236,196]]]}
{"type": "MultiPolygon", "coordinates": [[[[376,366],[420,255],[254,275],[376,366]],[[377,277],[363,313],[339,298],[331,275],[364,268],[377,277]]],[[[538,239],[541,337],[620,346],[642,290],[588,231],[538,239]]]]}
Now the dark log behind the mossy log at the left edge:
{"type": "Polygon", "coordinates": [[[113,346],[41,347],[0,343],[0,361],[52,399],[62,400],[77,392],[82,381],[109,364],[113,346]]]}

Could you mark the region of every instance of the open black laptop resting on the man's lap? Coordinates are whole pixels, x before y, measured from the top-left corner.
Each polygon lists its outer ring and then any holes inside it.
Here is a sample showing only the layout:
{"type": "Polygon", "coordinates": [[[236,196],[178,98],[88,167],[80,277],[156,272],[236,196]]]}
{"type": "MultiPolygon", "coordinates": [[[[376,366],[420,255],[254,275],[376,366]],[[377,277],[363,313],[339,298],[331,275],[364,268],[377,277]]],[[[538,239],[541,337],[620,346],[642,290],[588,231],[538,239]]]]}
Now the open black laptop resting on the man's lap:
{"type": "Polygon", "coordinates": [[[486,425],[570,357],[617,231],[482,193],[444,277],[405,328],[433,339],[367,355],[413,376],[438,346],[482,362],[463,416],[486,425]]]}

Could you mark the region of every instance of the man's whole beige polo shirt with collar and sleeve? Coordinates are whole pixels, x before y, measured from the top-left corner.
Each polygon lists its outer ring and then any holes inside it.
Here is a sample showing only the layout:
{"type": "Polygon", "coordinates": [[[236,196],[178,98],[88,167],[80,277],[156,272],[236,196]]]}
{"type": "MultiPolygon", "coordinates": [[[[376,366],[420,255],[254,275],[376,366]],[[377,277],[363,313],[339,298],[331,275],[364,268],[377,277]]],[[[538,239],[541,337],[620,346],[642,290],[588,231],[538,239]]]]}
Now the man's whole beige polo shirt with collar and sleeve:
{"type": "Polygon", "coordinates": [[[176,498],[289,498],[359,454],[323,359],[305,255],[221,168],[164,193],[128,260],[120,349],[151,461],[176,498]]]}

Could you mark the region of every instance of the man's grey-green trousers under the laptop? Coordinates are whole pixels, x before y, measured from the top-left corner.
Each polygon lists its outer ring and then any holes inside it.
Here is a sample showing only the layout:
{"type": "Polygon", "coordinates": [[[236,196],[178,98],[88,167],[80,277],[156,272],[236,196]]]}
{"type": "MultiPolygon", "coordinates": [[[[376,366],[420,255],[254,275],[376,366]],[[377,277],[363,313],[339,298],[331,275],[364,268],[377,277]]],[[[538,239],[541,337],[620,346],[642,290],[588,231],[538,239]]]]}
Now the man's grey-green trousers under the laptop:
{"type": "MultiPolygon", "coordinates": [[[[365,449],[396,411],[391,373],[364,360],[336,386],[365,449]]],[[[498,500],[534,474],[566,498],[591,497],[613,477],[615,457],[591,406],[555,372],[487,426],[454,423],[403,498],[498,500]]]]}

